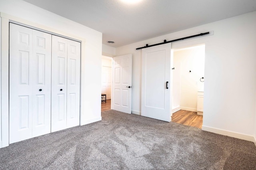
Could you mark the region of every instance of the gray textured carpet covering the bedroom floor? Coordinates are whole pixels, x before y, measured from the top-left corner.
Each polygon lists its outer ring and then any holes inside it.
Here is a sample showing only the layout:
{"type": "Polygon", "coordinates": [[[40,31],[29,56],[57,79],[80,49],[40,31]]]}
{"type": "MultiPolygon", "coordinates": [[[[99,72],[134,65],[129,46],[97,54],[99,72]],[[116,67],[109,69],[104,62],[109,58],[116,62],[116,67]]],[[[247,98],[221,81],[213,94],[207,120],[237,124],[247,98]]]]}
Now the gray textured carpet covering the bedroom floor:
{"type": "Polygon", "coordinates": [[[253,142],[178,123],[102,112],[102,121],[0,149],[0,169],[256,170],[253,142]]]}

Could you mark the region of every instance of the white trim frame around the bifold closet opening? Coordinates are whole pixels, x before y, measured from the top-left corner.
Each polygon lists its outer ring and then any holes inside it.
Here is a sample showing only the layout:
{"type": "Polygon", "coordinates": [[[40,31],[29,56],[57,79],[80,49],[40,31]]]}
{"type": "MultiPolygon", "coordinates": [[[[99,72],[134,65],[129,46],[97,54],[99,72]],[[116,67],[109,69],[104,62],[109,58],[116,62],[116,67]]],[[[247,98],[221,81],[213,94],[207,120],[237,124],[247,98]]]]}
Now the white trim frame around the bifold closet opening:
{"type": "MultiPolygon", "coordinates": [[[[64,38],[68,38],[71,40],[79,41],[81,42],[81,61],[82,56],[85,55],[85,51],[82,50],[82,47],[85,47],[86,40],[81,37],[77,37],[71,34],[68,34],[66,32],[63,32],[61,30],[56,30],[53,28],[49,28],[47,26],[43,26],[40,24],[36,24],[34,22],[30,22],[15,16],[11,16],[5,13],[0,12],[1,17],[1,60],[0,60],[0,69],[2,69],[1,72],[1,113],[2,115],[2,138],[0,136],[0,148],[9,146],[9,22],[19,24],[21,26],[26,26],[30,28],[37,28],[39,31],[44,31],[53,35],[62,35],[64,38]],[[59,34],[58,34],[59,33],[59,34]]],[[[82,62],[80,63],[80,80],[82,75],[82,62]]],[[[82,81],[80,81],[80,91],[81,91],[81,85],[82,81]]],[[[81,125],[81,93],[80,93],[80,125],[81,125]]],[[[1,130],[1,129],[0,129],[1,130]]]]}

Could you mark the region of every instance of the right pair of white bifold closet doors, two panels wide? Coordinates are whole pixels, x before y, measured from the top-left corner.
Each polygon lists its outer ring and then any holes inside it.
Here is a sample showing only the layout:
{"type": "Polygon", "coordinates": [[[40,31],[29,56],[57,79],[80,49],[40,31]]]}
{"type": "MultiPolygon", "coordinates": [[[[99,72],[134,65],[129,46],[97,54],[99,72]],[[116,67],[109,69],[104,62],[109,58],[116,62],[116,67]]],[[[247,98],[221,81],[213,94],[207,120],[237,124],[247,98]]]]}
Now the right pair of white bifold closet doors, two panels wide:
{"type": "Polygon", "coordinates": [[[52,128],[80,123],[80,42],[52,35],[52,128]]]}

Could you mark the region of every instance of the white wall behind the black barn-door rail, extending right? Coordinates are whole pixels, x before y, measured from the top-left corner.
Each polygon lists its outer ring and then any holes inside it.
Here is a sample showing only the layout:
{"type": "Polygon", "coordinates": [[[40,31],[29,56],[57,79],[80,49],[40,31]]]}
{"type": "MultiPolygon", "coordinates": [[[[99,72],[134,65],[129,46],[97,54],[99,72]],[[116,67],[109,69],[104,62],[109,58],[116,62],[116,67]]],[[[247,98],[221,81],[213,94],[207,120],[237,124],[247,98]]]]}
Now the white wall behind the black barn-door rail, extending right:
{"type": "Polygon", "coordinates": [[[133,56],[132,110],[140,112],[141,105],[141,50],[136,51],[137,47],[213,30],[212,36],[176,42],[172,48],[205,44],[203,130],[254,140],[255,18],[252,12],[116,48],[116,55],[133,56]]]}

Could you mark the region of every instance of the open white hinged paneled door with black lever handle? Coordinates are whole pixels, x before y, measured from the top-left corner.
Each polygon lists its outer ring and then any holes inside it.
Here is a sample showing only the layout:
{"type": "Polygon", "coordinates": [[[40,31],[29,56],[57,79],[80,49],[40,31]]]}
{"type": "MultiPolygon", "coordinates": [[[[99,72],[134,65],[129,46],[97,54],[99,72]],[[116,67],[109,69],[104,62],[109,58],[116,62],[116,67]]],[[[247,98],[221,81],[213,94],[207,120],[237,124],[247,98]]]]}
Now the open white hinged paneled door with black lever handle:
{"type": "Polygon", "coordinates": [[[113,57],[112,109],[131,113],[132,54],[113,57]]]}

